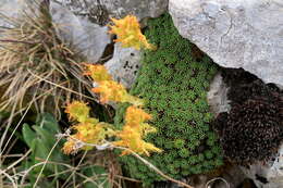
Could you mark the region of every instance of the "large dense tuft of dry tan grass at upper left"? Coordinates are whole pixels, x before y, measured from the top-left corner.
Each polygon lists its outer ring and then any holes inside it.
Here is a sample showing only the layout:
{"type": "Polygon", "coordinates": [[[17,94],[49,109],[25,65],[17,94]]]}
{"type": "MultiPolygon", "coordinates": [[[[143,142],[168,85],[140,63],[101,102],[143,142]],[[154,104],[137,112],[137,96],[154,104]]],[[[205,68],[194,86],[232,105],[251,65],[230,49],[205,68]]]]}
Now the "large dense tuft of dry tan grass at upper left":
{"type": "Polygon", "coordinates": [[[71,98],[86,99],[91,86],[83,59],[57,37],[48,4],[35,4],[16,18],[1,15],[11,27],[0,30],[0,105],[21,110],[32,101],[39,112],[60,114],[71,98]]]}

